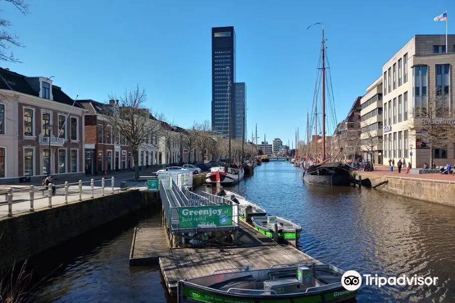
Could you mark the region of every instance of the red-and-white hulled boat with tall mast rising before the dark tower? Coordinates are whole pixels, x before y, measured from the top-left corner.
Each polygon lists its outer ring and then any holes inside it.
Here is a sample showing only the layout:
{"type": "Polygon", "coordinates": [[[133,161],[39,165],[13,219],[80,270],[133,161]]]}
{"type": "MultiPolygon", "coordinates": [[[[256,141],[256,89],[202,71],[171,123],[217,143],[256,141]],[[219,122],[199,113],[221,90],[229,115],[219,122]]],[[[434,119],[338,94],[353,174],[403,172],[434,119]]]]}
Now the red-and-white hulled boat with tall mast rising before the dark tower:
{"type": "Polygon", "coordinates": [[[206,175],[205,181],[209,184],[219,183],[220,185],[231,186],[240,182],[245,175],[242,165],[236,165],[231,162],[231,69],[226,68],[226,73],[228,74],[228,129],[229,129],[229,160],[226,166],[217,166],[212,167],[210,172],[206,175]]]}

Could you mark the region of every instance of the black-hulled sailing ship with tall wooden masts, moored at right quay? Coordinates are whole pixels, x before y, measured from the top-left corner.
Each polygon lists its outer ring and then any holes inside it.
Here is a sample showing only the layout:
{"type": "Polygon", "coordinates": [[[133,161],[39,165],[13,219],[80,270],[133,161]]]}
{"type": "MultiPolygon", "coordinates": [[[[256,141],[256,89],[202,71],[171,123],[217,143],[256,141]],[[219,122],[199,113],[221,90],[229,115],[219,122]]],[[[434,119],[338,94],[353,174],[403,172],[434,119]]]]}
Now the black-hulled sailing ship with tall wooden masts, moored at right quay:
{"type": "MultiPolygon", "coordinates": [[[[316,23],[316,24],[323,24],[323,23],[316,23]]],[[[313,24],[315,25],[315,24],[313,24]]],[[[312,26],[312,25],[311,25],[312,26]]],[[[308,28],[310,28],[309,26],[308,28]]],[[[326,46],[325,46],[325,38],[324,38],[324,25],[322,29],[322,60],[321,64],[322,67],[320,68],[322,71],[322,151],[321,151],[321,162],[318,163],[318,153],[317,153],[317,143],[319,141],[319,135],[317,133],[317,102],[315,102],[315,128],[316,134],[314,136],[315,142],[315,164],[312,166],[308,166],[304,168],[303,173],[303,180],[307,184],[311,185],[332,185],[332,186],[350,186],[353,178],[352,178],[352,168],[336,161],[335,155],[332,159],[326,158],[326,46]]],[[[329,90],[330,92],[330,90],[329,90]]],[[[317,92],[316,92],[317,93],[317,92]]],[[[339,153],[341,153],[342,149],[340,149],[339,153]]]]}

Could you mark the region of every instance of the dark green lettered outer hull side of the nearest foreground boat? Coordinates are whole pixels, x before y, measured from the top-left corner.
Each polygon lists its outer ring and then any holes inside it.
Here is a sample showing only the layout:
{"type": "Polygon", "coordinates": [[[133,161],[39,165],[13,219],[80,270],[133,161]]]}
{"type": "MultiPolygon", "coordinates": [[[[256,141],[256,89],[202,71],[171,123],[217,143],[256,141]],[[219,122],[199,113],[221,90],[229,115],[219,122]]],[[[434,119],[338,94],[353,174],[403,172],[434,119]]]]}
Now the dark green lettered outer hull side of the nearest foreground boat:
{"type": "Polygon", "coordinates": [[[212,288],[207,288],[186,281],[178,282],[178,303],[206,302],[206,303],[291,303],[291,302],[342,302],[355,297],[357,290],[349,291],[343,286],[328,291],[282,293],[269,295],[248,295],[242,293],[227,293],[212,288]]]}

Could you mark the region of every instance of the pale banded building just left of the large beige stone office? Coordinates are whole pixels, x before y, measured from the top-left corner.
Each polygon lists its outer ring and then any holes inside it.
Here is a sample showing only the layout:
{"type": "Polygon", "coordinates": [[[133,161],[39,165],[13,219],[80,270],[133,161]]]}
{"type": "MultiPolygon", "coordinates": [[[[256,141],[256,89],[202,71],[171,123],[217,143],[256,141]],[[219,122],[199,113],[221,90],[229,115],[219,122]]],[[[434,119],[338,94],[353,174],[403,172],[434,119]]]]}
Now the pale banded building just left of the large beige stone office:
{"type": "Polygon", "coordinates": [[[367,93],[360,99],[362,158],[373,164],[383,164],[382,81],[381,76],[367,88],[367,93]]]}

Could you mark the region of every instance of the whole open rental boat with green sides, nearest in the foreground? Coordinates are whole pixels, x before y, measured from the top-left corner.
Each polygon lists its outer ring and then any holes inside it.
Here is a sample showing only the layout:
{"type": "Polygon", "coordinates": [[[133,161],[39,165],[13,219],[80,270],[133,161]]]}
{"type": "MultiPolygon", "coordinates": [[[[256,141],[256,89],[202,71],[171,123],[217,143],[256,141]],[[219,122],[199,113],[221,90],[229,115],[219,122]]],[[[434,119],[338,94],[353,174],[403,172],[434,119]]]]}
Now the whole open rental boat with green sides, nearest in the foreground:
{"type": "Polygon", "coordinates": [[[357,294],[342,286],[344,273],[333,265],[315,263],[215,270],[211,275],[180,280],[178,303],[341,302],[357,294]]]}

